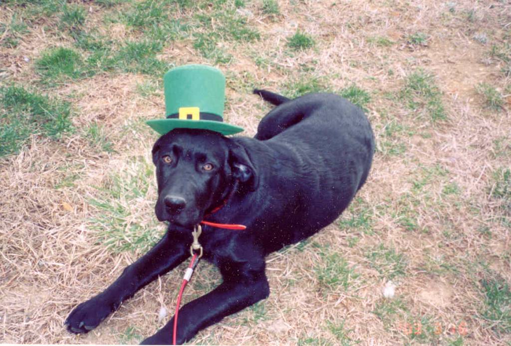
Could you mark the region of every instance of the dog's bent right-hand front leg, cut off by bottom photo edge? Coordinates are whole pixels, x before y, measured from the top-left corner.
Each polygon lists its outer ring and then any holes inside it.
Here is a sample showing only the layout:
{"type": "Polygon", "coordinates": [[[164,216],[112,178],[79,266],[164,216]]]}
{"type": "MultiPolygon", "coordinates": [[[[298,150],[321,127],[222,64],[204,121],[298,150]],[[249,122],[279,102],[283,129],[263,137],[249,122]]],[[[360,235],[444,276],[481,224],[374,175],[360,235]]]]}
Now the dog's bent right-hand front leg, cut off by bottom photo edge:
{"type": "MultiPolygon", "coordinates": [[[[190,340],[201,329],[219,322],[225,316],[238,312],[270,294],[268,280],[263,271],[254,275],[242,272],[236,278],[229,278],[210,293],[191,301],[179,310],[176,342],[181,344],[190,340]]],[[[171,344],[174,317],[156,334],[148,337],[142,344],[171,344]]]]}

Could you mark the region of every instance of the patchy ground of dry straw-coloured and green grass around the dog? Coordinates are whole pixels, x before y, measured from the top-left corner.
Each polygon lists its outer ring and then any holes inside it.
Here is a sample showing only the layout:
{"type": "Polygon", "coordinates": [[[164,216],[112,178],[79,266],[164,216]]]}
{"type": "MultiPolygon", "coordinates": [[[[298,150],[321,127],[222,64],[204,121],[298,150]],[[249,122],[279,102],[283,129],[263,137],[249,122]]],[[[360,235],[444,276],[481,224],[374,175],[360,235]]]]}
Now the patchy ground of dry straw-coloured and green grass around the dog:
{"type": "MultiPolygon", "coordinates": [[[[144,121],[162,73],[205,63],[245,135],[270,109],[253,87],[322,90],[366,110],[378,148],[349,210],[268,257],[270,297],[193,343],[511,344],[510,42],[504,0],[4,1],[0,342],[138,343],[166,323],[181,267],[96,330],[63,328],[165,231],[144,121]]],[[[185,302],[220,280],[201,263],[185,302]]]]}

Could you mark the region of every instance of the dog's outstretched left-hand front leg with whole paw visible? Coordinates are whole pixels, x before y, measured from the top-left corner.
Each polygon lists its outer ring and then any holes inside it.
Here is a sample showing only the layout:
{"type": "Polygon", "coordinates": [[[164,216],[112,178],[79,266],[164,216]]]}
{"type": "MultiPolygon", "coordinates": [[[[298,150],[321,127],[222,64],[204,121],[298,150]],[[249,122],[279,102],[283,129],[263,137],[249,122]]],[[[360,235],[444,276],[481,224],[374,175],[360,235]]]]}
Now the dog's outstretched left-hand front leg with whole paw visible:
{"type": "Polygon", "coordinates": [[[184,238],[178,233],[167,232],[146,255],[127,266],[107,289],[78,305],[65,320],[67,330],[86,333],[96,328],[137,290],[187,259],[191,242],[192,237],[184,238]]]}

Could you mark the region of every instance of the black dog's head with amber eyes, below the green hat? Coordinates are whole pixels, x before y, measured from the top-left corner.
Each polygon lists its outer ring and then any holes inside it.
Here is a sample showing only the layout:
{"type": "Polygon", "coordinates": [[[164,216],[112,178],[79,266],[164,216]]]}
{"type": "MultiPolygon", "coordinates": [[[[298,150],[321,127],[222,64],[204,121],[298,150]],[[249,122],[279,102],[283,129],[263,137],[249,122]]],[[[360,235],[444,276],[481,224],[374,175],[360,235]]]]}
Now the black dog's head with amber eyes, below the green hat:
{"type": "Polygon", "coordinates": [[[258,184],[243,147],[213,131],[175,129],[156,141],[152,154],[160,221],[193,228],[227,198],[236,181],[249,190],[258,184]]]}

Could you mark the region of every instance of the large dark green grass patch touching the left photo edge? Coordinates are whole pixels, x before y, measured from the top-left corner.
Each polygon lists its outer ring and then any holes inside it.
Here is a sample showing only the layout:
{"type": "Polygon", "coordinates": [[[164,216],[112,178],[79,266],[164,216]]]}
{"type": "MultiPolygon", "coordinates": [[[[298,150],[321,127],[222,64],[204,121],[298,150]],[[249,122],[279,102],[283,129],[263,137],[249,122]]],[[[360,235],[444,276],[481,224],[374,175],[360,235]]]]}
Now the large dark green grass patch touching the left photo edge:
{"type": "Polygon", "coordinates": [[[67,102],[23,87],[0,88],[0,156],[16,154],[32,134],[53,139],[72,132],[67,102]]]}

